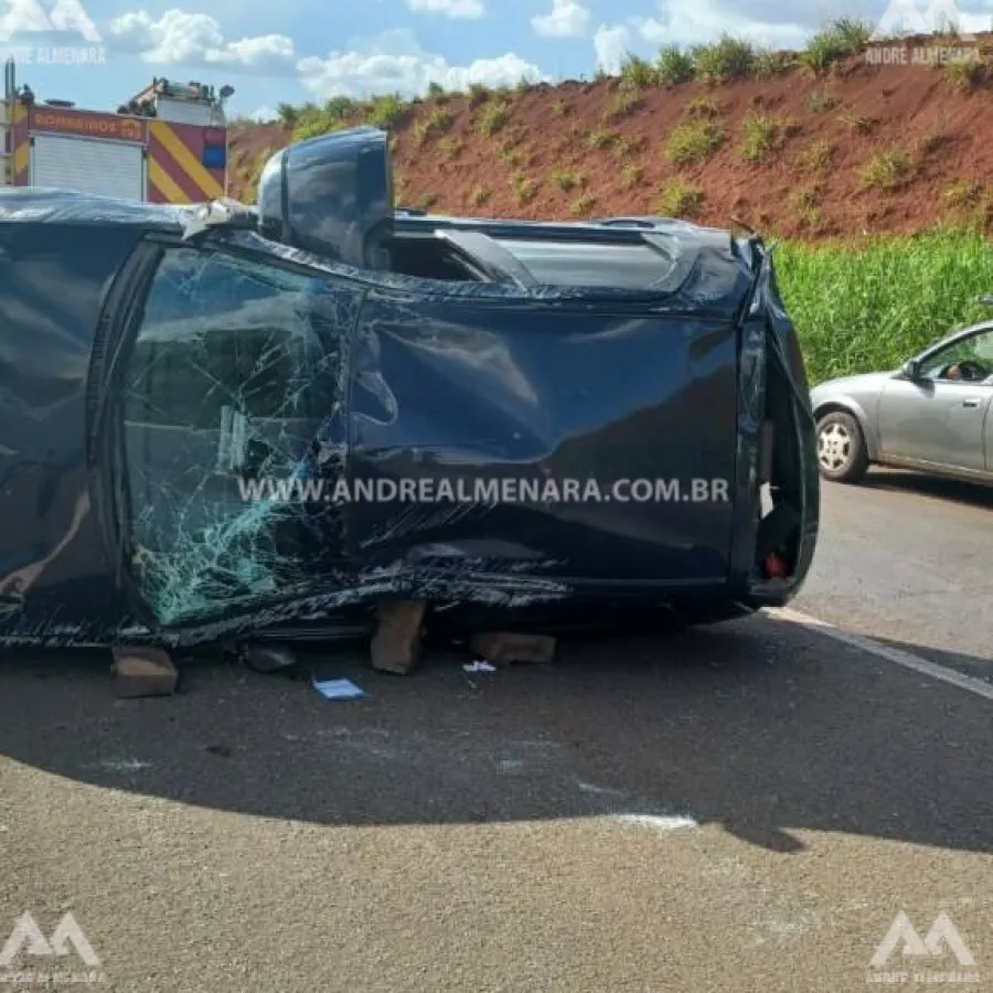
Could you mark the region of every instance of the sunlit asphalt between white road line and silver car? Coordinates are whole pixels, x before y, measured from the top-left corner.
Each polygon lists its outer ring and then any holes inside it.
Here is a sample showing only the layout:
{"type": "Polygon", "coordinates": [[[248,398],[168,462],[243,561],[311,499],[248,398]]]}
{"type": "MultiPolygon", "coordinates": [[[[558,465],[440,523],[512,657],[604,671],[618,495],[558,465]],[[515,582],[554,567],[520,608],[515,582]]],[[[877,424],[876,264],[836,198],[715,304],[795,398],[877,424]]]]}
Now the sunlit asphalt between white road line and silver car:
{"type": "Polygon", "coordinates": [[[823,537],[796,606],[993,680],[993,488],[875,470],[822,494],[823,537]]]}

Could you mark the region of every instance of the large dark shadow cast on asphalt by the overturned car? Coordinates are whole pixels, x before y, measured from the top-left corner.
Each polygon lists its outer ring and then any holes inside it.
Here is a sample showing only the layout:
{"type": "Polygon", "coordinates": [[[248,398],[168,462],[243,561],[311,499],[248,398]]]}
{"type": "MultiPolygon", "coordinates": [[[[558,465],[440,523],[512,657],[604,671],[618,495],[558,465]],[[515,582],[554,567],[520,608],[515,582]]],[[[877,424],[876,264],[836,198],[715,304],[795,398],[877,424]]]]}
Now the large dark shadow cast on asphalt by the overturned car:
{"type": "Polygon", "coordinates": [[[309,665],[366,700],[217,662],[174,698],[118,702],[106,659],[11,660],[0,752],[325,824],[680,815],[784,853],[804,830],[993,851],[991,704],[800,627],[567,642],[554,665],[471,679],[461,656],[397,679],[334,651],[309,665]]]}

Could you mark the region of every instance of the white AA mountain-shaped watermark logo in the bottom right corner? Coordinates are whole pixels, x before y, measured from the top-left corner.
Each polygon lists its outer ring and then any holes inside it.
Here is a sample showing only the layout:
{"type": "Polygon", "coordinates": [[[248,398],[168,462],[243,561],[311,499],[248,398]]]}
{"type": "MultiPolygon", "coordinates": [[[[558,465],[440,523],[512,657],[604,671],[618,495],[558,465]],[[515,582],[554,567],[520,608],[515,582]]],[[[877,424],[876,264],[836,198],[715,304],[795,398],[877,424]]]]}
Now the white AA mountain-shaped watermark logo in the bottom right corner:
{"type": "Polygon", "coordinates": [[[866,982],[895,985],[978,985],[975,958],[942,910],[923,938],[900,910],[869,961],[866,982]]]}

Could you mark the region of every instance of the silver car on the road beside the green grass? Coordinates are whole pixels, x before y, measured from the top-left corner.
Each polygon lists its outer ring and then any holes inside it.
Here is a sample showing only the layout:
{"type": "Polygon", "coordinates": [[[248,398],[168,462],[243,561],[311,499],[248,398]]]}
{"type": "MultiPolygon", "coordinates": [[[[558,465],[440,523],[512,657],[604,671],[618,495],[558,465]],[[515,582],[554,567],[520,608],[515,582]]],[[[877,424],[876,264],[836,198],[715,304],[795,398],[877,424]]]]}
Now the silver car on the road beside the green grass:
{"type": "Polygon", "coordinates": [[[993,321],[897,372],[822,383],[811,404],[825,479],[858,482],[878,465],[993,484],[993,321]]]}

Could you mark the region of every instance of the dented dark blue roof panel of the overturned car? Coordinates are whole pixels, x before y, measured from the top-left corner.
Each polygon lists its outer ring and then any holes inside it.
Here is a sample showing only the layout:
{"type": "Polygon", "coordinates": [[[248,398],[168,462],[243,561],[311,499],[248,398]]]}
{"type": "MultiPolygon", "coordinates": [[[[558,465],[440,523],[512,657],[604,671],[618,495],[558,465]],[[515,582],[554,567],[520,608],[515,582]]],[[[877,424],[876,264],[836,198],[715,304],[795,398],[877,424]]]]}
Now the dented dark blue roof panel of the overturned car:
{"type": "Polygon", "coordinates": [[[502,575],[521,596],[544,578],[725,581],[737,329],[704,313],[677,323],[636,296],[430,280],[371,295],[351,471],[418,495],[352,508],[363,560],[416,563],[467,590],[502,575]]]}

